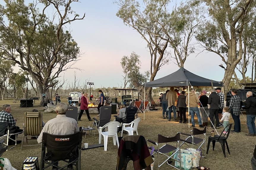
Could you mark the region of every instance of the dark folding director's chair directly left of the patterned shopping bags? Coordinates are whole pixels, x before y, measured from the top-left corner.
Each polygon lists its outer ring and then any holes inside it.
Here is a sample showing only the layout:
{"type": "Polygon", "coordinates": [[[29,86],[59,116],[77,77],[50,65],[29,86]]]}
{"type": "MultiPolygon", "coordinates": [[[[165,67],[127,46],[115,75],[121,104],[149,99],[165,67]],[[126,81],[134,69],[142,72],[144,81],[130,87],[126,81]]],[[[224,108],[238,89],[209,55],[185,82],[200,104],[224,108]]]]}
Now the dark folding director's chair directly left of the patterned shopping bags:
{"type": "MultiPolygon", "coordinates": [[[[175,161],[178,161],[180,163],[180,167],[181,167],[181,161],[174,158],[174,155],[177,152],[179,154],[179,158],[181,158],[180,133],[177,133],[174,137],[165,137],[165,136],[162,136],[162,135],[158,134],[157,142],[154,142],[152,140],[148,140],[148,142],[151,142],[154,145],[157,145],[157,149],[155,149],[154,147],[149,147],[149,149],[154,150],[155,153],[157,153],[158,168],[160,166],[162,166],[163,164],[165,164],[165,162],[167,162],[169,159],[173,159],[175,161]],[[177,143],[178,143],[178,148],[175,147],[175,146],[172,146],[170,144],[167,144],[167,143],[173,143],[173,142],[176,143],[176,146],[177,146],[177,143]],[[165,143],[165,144],[160,146],[161,143],[165,143]],[[172,152],[171,155],[169,155],[170,152],[172,152]],[[163,156],[167,157],[167,159],[165,159],[165,161],[163,163],[161,163],[160,165],[159,165],[159,155],[163,155],[163,156]]],[[[153,153],[153,154],[155,154],[155,153],[153,153]]],[[[169,162],[167,162],[167,164],[172,166],[175,169],[178,169],[175,166],[171,165],[169,162]]]]}

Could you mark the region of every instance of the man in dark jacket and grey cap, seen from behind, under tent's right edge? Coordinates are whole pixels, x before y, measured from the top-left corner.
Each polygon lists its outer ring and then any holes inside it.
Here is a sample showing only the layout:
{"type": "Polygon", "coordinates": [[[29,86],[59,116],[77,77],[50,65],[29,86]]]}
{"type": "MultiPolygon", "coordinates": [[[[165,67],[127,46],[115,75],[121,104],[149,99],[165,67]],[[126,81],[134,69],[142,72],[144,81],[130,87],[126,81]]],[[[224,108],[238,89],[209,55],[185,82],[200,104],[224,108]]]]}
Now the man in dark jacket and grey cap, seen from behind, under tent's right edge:
{"type": "Polygon", "coordinates": [[[219,95],[217,95],[216,90],[211,89],[211,94],[209,95],[208,104],[210,105],[210,120],[212,122],[211,128],[214,125],[214,117],[216,119],[216,129],[219,129],[219,95]]]}

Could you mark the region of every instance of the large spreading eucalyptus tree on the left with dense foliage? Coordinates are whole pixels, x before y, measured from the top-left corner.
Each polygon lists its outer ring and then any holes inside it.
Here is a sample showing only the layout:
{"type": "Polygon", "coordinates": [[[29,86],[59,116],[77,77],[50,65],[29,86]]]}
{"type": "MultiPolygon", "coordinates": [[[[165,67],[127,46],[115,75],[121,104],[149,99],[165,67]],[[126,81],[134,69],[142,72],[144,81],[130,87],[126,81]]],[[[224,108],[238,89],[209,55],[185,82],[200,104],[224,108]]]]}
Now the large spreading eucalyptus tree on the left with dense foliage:
{"type": "Polygon", "coordinates": [[[78,0],[40,0],[28,5],[23,0],[4,2],[0,7],[1,57],[28,72],[47,101],[51,99],[49,88],[57,83],[53,80],[80,57],[66,25],[82,20],[85,14],[79,17],[71,9],[71,3],[78,0]],[[53,12],[52,17],[46,16],[49,12],[53,12]]]}

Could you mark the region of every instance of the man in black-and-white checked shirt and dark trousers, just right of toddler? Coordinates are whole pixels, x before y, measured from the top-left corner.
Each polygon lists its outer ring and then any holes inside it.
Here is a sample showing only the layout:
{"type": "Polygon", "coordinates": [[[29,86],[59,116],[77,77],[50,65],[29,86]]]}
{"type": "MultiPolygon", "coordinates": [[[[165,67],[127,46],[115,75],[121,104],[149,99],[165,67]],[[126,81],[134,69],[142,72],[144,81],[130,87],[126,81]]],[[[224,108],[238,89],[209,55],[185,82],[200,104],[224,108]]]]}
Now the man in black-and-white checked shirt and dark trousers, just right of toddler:
{"type": "Polygon", "coordinates": [[[240,97],[237,95],[237,90],[233,89],[231,91],[231,94],[233,95],[230,98],[230,103],[229,103],[229,110],[231,112],[231,116],[234,119],[234,130],[231,130],[231,132],[241,132],[241,123],[240,123],[240,109],[241,109],[241,104],[240,104],[240,97]]]}

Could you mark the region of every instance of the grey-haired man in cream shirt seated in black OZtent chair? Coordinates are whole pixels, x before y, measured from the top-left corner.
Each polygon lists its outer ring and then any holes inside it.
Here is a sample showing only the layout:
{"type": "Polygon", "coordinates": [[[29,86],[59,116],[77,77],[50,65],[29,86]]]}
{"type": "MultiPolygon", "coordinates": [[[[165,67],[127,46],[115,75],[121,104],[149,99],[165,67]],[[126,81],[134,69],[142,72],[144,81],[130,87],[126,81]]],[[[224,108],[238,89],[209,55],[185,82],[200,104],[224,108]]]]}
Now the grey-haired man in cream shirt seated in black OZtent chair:
{"type": "MultiPolygon", "coordinates": [[[[52,135],[71,135],[75,132],[79,131],[77,122],[75,119],[67,117],[67,104],[65,103],[59,103],[56,105],[56,118],[53,118],[45,123],[45,126],[43,127],[39,137],[37,138],[38,143],[42,143],[42,137],[43,132],[50,133],[52,135]]],[[[73,161],[70,159],[69,161],[73,161]]],[[[58,166],[58,161],[52,161],[52,163],[56,166],[58,166]]],[[[68,169],[73,169],[72,165],[69,165],[67,167],[68,169]]],[[[56,170],[57,168],[53,167],[53,170],[56,170]]]]}

